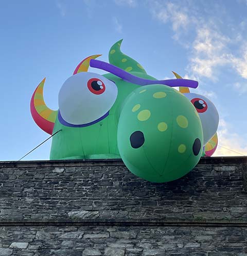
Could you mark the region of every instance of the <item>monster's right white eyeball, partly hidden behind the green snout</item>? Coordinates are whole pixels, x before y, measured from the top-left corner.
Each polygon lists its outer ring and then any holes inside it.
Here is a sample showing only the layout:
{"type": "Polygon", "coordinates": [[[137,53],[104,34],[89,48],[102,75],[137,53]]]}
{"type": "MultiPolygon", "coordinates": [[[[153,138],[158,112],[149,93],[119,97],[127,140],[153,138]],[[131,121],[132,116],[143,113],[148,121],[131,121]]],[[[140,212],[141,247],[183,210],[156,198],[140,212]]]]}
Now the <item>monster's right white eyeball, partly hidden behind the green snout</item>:
{"type": "Polygon", "coordinates": [[[202,123],[203,146],[215,135],[219,125],[218,111],[210,100],[197,93],[184,93],[196,108],[202,123]]]}

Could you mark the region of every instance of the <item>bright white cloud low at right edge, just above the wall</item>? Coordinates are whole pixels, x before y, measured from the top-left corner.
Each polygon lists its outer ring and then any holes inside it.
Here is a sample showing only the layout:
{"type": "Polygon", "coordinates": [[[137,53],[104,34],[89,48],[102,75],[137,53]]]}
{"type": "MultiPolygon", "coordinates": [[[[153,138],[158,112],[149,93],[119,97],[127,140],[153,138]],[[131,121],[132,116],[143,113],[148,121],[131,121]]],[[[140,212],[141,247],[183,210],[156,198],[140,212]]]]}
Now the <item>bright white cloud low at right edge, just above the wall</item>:
{"type": "Polygon", "coordinates": [[[219,146],[214,156],[236,156],[247,155],[247,145],[244,143],[241,136],[232,133],[229,129],[229,124],[220,119],[218,129],[219,146]]]}

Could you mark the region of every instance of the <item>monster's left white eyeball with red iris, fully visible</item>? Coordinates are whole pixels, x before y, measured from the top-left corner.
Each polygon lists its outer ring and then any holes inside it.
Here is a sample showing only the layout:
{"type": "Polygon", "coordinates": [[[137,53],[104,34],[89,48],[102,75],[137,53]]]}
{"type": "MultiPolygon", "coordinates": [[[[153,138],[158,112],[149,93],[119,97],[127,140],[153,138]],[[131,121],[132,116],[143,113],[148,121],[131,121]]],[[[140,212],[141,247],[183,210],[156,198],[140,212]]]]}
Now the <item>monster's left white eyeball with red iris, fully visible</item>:
{"type": "Polygon", "coordinates": [[[70,76],[61,87],[59,111],[69,124],[87,124],[107,114],[116,98],[117,87],[109,79],[81,72],[70,76]]]}

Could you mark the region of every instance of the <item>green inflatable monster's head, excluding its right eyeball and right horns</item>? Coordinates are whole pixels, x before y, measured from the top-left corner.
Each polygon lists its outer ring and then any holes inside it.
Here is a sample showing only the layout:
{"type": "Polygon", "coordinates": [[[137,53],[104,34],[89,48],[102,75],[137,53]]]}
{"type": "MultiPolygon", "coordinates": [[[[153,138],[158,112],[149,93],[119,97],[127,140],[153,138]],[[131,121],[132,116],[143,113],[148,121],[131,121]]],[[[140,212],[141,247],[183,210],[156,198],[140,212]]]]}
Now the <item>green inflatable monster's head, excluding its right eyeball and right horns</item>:
{"type": "Polygon", "coordinates": [[[172,87],[198,82],[155,79],[120,51],[121,41],[111,47],[110,63],[96,60],[100,55],[79,63],[60,89],[57,111],[44,102],[43,79],[31,98],[32,117],[48,134],[61,130],[52,137],[50,159],[122,158],[148,181],[179,179],[196,166],[205,140],[195,104],[172,87]]]}

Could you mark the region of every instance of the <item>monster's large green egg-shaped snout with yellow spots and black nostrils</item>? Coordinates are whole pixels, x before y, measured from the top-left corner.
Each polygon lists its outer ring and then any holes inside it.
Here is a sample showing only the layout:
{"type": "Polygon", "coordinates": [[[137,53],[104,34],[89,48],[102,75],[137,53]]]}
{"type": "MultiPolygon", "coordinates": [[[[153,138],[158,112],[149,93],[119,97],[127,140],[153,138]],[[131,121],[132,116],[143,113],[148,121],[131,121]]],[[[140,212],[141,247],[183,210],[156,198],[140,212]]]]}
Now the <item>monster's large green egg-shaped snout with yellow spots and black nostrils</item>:
{"type": "Polygon", "coordinates": [[[151,182],[177,180],[199,162],[202,125],[195,107],[163,85],[135,89],[123,105],[117,142],[128,169],[151,182]]]}

